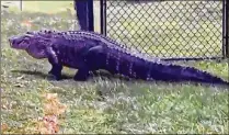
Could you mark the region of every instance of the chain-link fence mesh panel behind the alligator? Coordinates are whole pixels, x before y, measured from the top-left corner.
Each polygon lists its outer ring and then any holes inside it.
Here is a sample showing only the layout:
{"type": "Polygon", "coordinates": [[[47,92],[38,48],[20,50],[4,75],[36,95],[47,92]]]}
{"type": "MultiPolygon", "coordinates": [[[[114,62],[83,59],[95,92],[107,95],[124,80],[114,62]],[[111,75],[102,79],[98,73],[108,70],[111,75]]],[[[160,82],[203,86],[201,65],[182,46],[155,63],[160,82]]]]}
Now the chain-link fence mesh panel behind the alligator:
{"type": "Polygon", "coordinates": [[[156,57],[222,57],[220,1],[105,1],[105,33],[156,57]]]}

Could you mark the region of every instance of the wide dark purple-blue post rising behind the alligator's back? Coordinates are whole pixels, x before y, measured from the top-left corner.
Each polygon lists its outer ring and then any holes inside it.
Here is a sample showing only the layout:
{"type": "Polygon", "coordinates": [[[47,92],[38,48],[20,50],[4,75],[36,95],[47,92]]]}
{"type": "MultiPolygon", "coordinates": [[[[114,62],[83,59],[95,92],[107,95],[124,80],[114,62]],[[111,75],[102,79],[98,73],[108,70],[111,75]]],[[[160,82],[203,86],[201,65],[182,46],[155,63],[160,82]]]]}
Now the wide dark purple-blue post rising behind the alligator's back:
{"type": "Polygon", "coordinates": [[[75,0],[75,10],[81,30],[94,31],[93,0],[75,0]]]}

